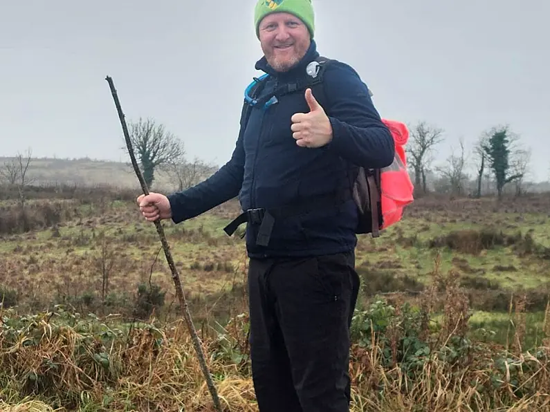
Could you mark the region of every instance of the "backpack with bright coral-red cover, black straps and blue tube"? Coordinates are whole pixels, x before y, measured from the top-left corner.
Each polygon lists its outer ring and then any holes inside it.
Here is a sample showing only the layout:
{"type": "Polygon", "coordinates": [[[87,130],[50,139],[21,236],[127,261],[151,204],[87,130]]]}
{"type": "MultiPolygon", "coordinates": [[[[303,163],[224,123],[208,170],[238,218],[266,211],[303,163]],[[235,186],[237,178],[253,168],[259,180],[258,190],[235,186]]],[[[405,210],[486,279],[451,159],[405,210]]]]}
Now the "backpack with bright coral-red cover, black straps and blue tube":
{"type": "MultiPolygon", "coordinates": [[[[304,92],[306,88],[311,88],[315,100],[323,106],[329,113],[327,99],[324,94],[323,74],[326,67],[332,60],[326,57],[318,57],[311,62],[306,72],[309,75],[306,82],[295,82],[291,84],[282,84],[275,89],[275,93],[269,99],[257,100],[268,74],[253,78],[244,91],[244,105],[241,113],[241,131],[244,133],[248,117],[253,106],[264,104],[265,107],[277,103],[278,97],[289,93],[304,92]]],[[[372,96],[372,92],[369,90],[372,96]]],[[[392,133],[395,142],[395,156],[391,165],[383,169],[370,169],[367,167],[358,167],[356,176],[351,183],[351,190],[347,190],[347,195],[351,196],[358,208],[358,225],[356,234],[372,234],[372,237],[380,236],[380,231],[401,221],[403,209],[413,202],[414,186],[407,172],[407,158],[405,154],[405,144],[409,138],[409,131],[403,122],[388,120],[383,118],[383,123],[392,133]]],[[[349,188],[345,188],[349,189],[349,188]]],[[[342,200],[349,198],[345,196],[342,200]]],[[[330,200],[329,200],[330,204],[330,200]]],[[[332,200],[333,204],[333,200],[332,200]]],[[[320,206],[318,202],[312,202],[310,209],[320,206]]],[[[301,210],[304,212],[304,209],[301,210]]],[[[264,216],[260,216],[264,217],[264,216]]],[[[270,216],[271,217],[271,216],[270,216]]],[[[237,229],[237,226],[245,221],[250,221],[254,216],[244,212],[239,218],[230,223],[224,230],[231,236],[237,229]]],[[[273,218],[267,225],[273,225],[273,218]]],[[[262,226],[264,222],[262,222],[262,226]]],[[[260,239],[259,239],[260,240],[260,239]]],[[[268,239],[262,239],[261,244],[266,245],[268,239]]]]}

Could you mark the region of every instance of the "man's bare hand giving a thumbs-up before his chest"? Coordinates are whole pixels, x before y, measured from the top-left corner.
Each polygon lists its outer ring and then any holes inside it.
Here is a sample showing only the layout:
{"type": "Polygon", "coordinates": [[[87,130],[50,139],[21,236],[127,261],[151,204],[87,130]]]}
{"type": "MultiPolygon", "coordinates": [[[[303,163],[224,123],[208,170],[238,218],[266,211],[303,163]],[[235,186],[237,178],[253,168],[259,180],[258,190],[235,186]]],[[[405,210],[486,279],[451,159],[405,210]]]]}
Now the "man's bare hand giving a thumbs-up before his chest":
{"type": "Polygon", "coordinates": [[[332,140],[331,122],[311,88],[306,90],[306,102],[309,113],[295,113],[291,118],[293,138],[300,147],[322,147],[332,140]]]}

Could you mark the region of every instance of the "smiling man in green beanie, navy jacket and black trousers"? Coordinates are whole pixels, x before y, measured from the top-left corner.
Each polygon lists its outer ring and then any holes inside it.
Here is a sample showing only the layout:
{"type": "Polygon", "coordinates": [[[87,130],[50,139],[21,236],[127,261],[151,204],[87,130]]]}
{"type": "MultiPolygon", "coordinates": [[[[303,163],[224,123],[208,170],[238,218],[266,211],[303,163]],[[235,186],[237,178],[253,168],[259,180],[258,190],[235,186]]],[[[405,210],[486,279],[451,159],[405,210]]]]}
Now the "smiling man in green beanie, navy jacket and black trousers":
{"type": "Polygon", "coordinates": [[[248,218],[250,355],[259,410],[349,411],[358,212],[345,194],[358,165],[392,163],[394,140],[367,86],[340,62],[324,71],[327,111],[311,88],[275,93],[275,103],[264,104],[281,86],[303,84],[319,56],[311,0],[259,0],[255,24],[264,52],[256,68],[268,77],[231,159],[195,187],[140,196],[138,203],[147,220],[178,223],[239,196],[248,218]]]}

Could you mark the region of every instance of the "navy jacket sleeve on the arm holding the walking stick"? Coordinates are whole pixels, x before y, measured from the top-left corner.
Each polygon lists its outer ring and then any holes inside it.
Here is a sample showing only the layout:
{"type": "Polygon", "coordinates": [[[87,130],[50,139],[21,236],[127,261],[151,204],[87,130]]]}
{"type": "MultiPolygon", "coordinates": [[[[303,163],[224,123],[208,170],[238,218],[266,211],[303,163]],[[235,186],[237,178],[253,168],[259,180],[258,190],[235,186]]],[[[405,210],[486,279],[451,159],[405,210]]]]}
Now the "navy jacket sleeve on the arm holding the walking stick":
{"type": "Polygon", "coordinates": [[[170,194],[172,221],[180,223],[235,198],[241,190],[244,176],[244,147],[241,135],[231,159],[210,178],[198,185],[170,194]]]}

